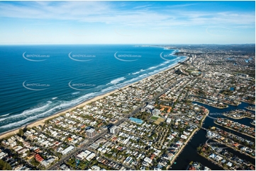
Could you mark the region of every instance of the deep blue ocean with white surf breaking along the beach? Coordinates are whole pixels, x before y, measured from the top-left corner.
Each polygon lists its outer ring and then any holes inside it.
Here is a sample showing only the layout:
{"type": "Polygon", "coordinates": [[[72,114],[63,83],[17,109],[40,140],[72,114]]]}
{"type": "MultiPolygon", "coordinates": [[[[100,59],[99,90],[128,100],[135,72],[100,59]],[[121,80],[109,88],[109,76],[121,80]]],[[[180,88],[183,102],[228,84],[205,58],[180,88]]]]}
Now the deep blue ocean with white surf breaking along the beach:
{"type": "Polygon", "coordinates": [[[140,81],[186,59],[172,55],[174,52],[135,45],[0,46],[0,133],[140,81]]]}

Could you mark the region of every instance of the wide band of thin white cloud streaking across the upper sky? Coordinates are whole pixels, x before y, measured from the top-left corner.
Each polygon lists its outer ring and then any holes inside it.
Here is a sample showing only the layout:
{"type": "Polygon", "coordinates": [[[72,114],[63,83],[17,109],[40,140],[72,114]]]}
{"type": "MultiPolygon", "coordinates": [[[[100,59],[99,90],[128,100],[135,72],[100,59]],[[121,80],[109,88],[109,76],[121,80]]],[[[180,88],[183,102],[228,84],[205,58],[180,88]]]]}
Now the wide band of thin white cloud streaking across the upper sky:
{"type": "MultiPolygon", "coordinates": [[[[134,5],[134,4],[133,4],[134,5]]],[[[174,6],[193,6],[181,4],[174,6]]],[[[74,20],[84,23],[106,23],[133,27],[160,27],[174,25],[252,25],[255,13],[223,11],[171,10],[174,6],[134,6],[127,3],[119,6],[108,1],[37,1],[0,3],[0,16],[9,18],[34,18],[52,20],[74,20]],[[122,6],[122,7],[121,7],[122,6]],[[127,8],[126,8],[127,7],[127,8]],[[129,7],[129,8],[128,8],[129,7]],[[145,10],[145,8],[147,8],[145,10]]]]}

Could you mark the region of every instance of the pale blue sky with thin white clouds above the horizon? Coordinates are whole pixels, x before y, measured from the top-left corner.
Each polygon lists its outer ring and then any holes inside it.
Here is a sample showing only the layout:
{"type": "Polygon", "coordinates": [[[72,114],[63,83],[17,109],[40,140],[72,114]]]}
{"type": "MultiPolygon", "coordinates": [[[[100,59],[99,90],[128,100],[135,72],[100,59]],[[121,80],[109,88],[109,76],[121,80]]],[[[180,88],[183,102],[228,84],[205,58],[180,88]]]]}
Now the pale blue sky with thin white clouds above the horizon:
{"type": "Polygon", "coordinates": [[[0,1],[0,45],[255,43],[255,1],[0,1]]]}

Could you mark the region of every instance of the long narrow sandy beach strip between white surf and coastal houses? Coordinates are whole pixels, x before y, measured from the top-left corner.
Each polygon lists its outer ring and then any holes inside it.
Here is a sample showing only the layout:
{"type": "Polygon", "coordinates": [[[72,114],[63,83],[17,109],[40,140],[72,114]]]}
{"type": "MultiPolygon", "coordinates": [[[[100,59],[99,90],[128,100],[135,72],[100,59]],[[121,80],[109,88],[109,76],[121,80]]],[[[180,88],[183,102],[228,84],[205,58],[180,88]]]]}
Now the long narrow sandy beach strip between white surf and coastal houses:
{"type": "MultiPolygon", "coordinates": [[[[184,62],[184,61],[187,61],[188,59],[189,59],[189,57],[186,57],[186,59],[184,59],[183,61],[179,61],[179,62],[184,62]]],[[[171,69],[174,69],[175,67],[181,65],[181,64],[179,64],[179,62],[178,62],[177,64],[174,64],[174,66],[171,66],[171,67],[169,67],[168,69],[165,69],[164,71],[160,71],[160,72],[158,72],[158,73],[155,73],[155,74],[153,74],[152,76],[148,76],[148,77],[146,77],[146,78],[143,78],[143,79],[140,80],[140,81],[144,81],[145,79],[152,78],[153,76],[155,76],[155,75],[157,75],[157,74],[159,74],[159,73],[163,73],[163,72],[169,71],[169,70],[171,70],[171,69]]],[[[138,82],[140,82],[140,81],[136,81],[135,83],[138,83],[138,82]]],[[[127,86],[123,86],[122,88],[118,88],[118,89],[116,89],[116,90],[111,90],[111,91],[108,92],[108,93],[104,93],[104,94],[98,95],[98,96],[96,96],[96,97],[94,97],[94,98],[87,99],[87,100],[85,100],[84,102],[81,102],[81,103],[78,104],[78,105],[75,105],[75,106],[73,106],[73,107],[68,108],[67,110],[62,110],[62,111],[60,111],[60,112],[57,112],[57,113],[55,113],[55,114],[52,114],[52,115],[50,115],[50,116],[48,116],[48,117],[45,117],[45,118],[43,118],[43,119],[39,119],[39,120],[37,120],[37,121],[35,121],[35,122],[31,122],[31,123],[29,123],[29,124],[25,124],[25,125],[23,125],[23,126],[20,126],[20,127],[16,128],[16,129],[12,129],[12,130],[10,130],[10,131],[3,132],[3,133],[0,134],[0,139],[1,139],[1,138],[4,138],[4,137],[6,137],[6,136],[13,136],[13,135],[15,135],[15,134],[18,133],[18,130],[19,130],[19,129],[24,129],[25,127],[30,127],[30,128],[32,128],[33,126],[39,126],[39,125],[42,125],[42,126],[43,126],[43,125],[45,124],[44,122],[45,122],[46,120],[48,120],[48,119],[52,119],[52,118],[54,118],[54,117],[58,117],[58,116],[60,116],[60,114],[65,114],[65,113],[67,113],[67,112],[70,112],[70,111],[72,111],[72,110],[75,110],[75,109],[78,108],[78,107],[84,107],[84,105],[87,105],[87,104],[89,104],[89,103],[91,103],[91,102],[95,102],[95,101],[100,100],[100,99],[102,99],[102,98],[106,98],[108,95],[111,95],[111,94],[113,94],[113,93],[116,93],[116,92],[118,92],[119,90],[123,90],[123,89],[125,89],[125,88],[128,88],[129,86],[131,86],[131,85],[133,85],[133,84],[135,84],[135,83],[130,83],[130,84],[128,84],[127,86]]]]}

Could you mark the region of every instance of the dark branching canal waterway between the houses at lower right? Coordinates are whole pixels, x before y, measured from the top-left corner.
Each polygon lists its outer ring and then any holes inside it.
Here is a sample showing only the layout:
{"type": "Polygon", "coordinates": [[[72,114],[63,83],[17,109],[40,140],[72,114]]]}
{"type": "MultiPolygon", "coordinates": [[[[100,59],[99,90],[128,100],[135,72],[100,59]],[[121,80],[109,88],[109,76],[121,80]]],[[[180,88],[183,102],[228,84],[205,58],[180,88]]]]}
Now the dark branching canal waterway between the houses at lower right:
{"type": "MultiPolygon", "coordinates": [[[[217,117],[225,117],[222,115],[223,112],[229,112],[231,110],[237,110],[237,109],[246,110],[245,107],[247,107],[249,105],[248,103],[242,102],[238,106],[228,105],[228,108],[226,108],[226,109],[218,109],[216,107],[204,105],[200,102],[193,102],[193,103],[206,107],[206,109],[209,110],[209,116],[216,117],[216,118],[217,117]]],[[[252,105],[252,106],[255,107],[255,105],[252,105]]],[[[255,114],[254,111],[250,111],[250,112],[255,114]]],[[[240,136],[242,138],[246,138],[247,140],[255,141],[255,138],[246,136],[245,134],[240,134],[240,133],[238,133],[236,131],[232,131],[230,129],[226,129],[223,126],[220,126],[218,124],[214,124],[214,119],[211,117],[206,117],[206,119],[204,120],[204,124],[203,124],[204,128],[208,129],[210,126],[216,126],[219,129],[223,129],[224,131],[228,131],[228,132],[235,134],[237,136],[240,136]]],[[[230,117],[225,117],[225,118],[228,118],[228,119],[233,120],[234,122],[238,122],[240,124],[245,124],[247,126],[255,127],[252,124],[250,124],[250,122],[252,121],[252,119],[250,119],[250,118],[243,118],[243,119],[232,119],[230,117]]],[[[175,160],[176,164],[173,164],[172,167],[169,168],[169,170],[186,170],[187,166],[189,165],[189,163],[191,161],[199,162],[202,165],[209,167],[211,170],[223,170],[222,167],[215,165],[214,163],[212,163],[211,161],[207,160],[206,158],[202,157],[201,155],[199,155],[197,153],[196,148],[199,147],[201,144],[206,143],[207,140],[208,140],[208,138],[206,138],[205,130],[200,129],[199,131],[197,131],[196,134],[194,134],[194,136],[191,138],[191,140],[189,141],[187,146],[184,148],[182,153],[180,153],[178,158],[175,160]]],[[[220,145],[218,147],[226,147],[226,146],[220,145]]],[[[247,160],[250,163],[252,163],[253,165],[255,165],[254,158],[250,158],[249,156],[239,153],[238,151],[234,151],[232,148],[226,148],[226,150],[233,153],[233,155],[238,156],[238,158],[247,160]]]]}

